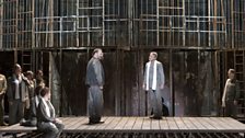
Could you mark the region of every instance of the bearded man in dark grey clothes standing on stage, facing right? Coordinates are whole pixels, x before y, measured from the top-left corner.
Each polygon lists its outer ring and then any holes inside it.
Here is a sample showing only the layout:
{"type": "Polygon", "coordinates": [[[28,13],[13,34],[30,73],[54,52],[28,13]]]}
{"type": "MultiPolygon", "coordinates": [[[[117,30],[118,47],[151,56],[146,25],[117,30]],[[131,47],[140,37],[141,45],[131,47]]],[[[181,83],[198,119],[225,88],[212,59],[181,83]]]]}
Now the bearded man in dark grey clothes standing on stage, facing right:
{"type": "Polygon", "coordinates": [[[101,60],[103,51],[100,48],[94,49],[93,57],[90,59],[86,67],[86,84],[90,87],[88,92],[89,103],[89,124],[97,124],[101,122],[103,112],[103,85],[104,85],[104,69],[101,60]]]}

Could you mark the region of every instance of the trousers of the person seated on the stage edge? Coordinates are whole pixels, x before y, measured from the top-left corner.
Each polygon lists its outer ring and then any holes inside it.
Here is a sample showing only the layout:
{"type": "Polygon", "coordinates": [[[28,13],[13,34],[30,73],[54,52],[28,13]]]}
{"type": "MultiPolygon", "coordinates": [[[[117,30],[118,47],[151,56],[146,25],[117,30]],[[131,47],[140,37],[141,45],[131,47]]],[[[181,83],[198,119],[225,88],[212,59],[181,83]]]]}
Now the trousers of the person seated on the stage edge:
{"type": "Polygon", "coordinates": [[[42,138],[59,138],[60,134],[63,130],[63,124],[58,123],[38,123],[37,129],[44,135],[42,138]]]}

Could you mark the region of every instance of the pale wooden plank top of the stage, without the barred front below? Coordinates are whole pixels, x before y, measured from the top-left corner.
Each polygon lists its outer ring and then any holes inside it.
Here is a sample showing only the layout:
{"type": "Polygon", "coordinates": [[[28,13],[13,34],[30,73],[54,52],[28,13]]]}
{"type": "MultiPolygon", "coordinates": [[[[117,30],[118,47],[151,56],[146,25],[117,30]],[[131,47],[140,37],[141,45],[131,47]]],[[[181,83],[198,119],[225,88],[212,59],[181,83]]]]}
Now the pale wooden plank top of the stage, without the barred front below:
{"type": "MultiPolygon", "coordinates": [[[[89,117],[62,117],[65,133],[245,133],[245,125],[229,117],[102,117],[103,124],[89,125],[89,117]]],[[[32,133],[36,127],[19,124],[1,127],[0,133],[32,133]]]]}

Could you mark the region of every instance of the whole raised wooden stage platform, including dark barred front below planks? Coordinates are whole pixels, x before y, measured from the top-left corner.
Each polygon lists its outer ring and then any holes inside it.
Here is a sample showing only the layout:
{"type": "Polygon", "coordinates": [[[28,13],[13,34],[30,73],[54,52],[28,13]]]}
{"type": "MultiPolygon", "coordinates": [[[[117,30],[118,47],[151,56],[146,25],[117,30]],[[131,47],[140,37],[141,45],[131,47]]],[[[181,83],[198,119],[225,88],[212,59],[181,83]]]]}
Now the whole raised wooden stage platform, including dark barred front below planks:
{"type": "MultiPolygon", "coordinates": [[[[149,117],[116,117],[104,116],[103,124],[88,125],[89,118],[61,117],[65,129],[62,137],[242,137],[245,124],[230,117],[163,117],[151,119],[149,117]],[[242,135],[241,135],[242,134],[242,135]]],[[[13,125],[0,128],[1,134],[22,133],[34,136],[36,127],[13,125]],[[32,134],[32,135],[31,135],[32,134]]],[[[23,136],[21,136],[23,137],[23,136]]]]}

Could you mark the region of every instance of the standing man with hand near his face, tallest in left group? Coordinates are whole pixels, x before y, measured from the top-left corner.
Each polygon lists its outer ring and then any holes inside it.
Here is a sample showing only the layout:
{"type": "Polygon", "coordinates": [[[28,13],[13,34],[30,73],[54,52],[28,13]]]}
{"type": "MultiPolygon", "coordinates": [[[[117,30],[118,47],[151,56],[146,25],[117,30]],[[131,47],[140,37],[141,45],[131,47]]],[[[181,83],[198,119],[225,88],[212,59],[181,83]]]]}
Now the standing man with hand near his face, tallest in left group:
{"type": "Polygon", "coordinates": [[[13,74],[8,80],[8,100],[9,100],[9,124],[20,123],[24,117],[24,102],[28,96],[28,81],[23,76],[21,66],[15,64],[13,74]]]}

